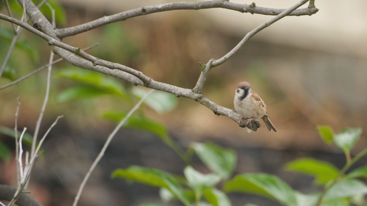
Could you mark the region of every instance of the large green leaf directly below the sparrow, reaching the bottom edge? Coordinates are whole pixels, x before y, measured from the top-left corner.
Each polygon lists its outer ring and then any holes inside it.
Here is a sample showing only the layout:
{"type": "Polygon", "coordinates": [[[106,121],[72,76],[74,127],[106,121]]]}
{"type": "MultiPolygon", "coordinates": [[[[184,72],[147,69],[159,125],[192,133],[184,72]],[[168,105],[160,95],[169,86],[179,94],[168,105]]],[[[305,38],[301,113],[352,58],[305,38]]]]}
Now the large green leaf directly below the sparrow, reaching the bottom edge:
{"type": "Polygon", "coordinates": [[[237,175],[224,185],[226,192],[245,192],[274,199],[287,206],[296,206],[292,188],[277,176],[265,173],[237,175]]]}

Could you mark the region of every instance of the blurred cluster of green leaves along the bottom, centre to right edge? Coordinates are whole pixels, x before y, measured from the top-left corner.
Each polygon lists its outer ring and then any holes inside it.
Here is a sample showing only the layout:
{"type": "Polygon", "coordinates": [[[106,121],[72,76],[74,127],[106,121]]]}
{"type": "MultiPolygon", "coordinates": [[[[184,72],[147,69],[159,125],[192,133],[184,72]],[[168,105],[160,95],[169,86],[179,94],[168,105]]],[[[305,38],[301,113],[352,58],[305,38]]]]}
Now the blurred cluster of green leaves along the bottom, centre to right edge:
{"type": "MultiPolygon", "coordinates": [[[[325,128],[327,127],[317,127],[318,130],[325,128]]],[[[361,135],[361,129],[343,129],[341,133],[333,134],[330,141],[340,141],[338,138],[341,135],[344,136],[342,138],[344,145],[350,146],[348,150],[351,150],[361,135]]],[[[324,131],[320,132],[320,136],[322,138],[328,136],[330,139],[330,135],[324,131]]],[[[344,148],[341,147],[345,152],[344,148]]],[[[161,170],[131,166],[127,169],[116,169],[112,177],[160,187],[160,197],[163,202],[178,200],[185,206],[231,206],[232,203],[226,195],[230,192],[255,194],[286,206],[348,206],[352,201],[354,204],[359,202],[360,206],[366,204],[363,198],[358,197],[367,194],[367,185],[355,178],[367,177],[367,165],[348,174],[345,172],[359,158],[367,154],[367,148],[347,161],[341,170],[329,162],[312,158],[301,158],[287,163],[285,165],[287,170],[313,176],[315,184],[324,187],[323,192],[310,194],[293,190],[286,182],[272,174],[243,173],[228,180],[236,166],[235,151],[224,149],[214,143],[193,143],[187,152],[191,154],[192,150],[211,173],[200,173],[188,165],[183,170],[184,177],[180,177],[186,181],[178,181],[173,174],[161,170]],[[218,183],[223,185],[222,190],[217,188],[218,183]]],[[[247,206],[253,205],[248,203],[247,206]]]]}

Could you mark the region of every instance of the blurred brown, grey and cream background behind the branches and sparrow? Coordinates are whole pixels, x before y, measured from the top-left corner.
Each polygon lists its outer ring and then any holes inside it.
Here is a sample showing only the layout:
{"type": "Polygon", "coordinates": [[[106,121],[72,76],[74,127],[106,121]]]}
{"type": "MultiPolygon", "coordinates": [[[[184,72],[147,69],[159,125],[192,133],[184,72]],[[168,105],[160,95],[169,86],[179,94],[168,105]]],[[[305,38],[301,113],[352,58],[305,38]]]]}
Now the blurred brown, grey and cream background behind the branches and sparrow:
{"type": "MultiPolygon", "coordinates": [[[[62,28],[104,15],[169,2],[174,1],[59,0],[51,4],[57,9],[57,27],[62,28]]],[[[259,0],[255,3],[260,7],[288,8],[296,1],[259,0]]],[[[14,15],[20,19],[21,7],[17,4],[10,0],[14,15]]],[[[213,141],[235,149],[238,156],[236,173],[276,174],[302,192],[317,190],[312,178],[284,172],[282,165],[298,157],[314,157],[341,168],[345,163],[344,155],[336,146],[328,146],[320,139],[316,125],[330,125],[334,132],[345,127],[367,130],[364,124],[367,120],[367,14],[363,10],[367,2],[356,0],[348,7],[344,1],[316,1],[315,4],[320,9],[315,15],[289,16],[256,34],[230,60],[211,70],[203,88],[204,96],[233,109],[237,83],[250,82],[252,89],[265,101],[269,118],[278,132],[261,127],[257,132],[247,133],[228,117],[214,115],[201,104],[184,98],[178,98],[177,107],[165,113],[157,113],[149,107],[142,110],[147,117],[164,125],[183,148],[193,141],[213,141]]],[[[42,9],[50,19],[49,9],[46,6],[42,9]]],[[[7,14],[4,5],[0,12],[7,14]]],[[[247,32],[270,18],[272,16],[221,8],[168,11],[112,23],[66,37],[63,42],[80,48],[101,42],[87,52],[142,71],[156,81],[193,88],[200,75],[198,62],[219,59],[247,32]]],[[[12,35],[11,24],[0,21],[1,62],[12,35]]],[[[6,69],[7,76],[1,78],[0,86],[48,62],[50,47],[44,40],[23,31],[18,42],[6,69]]],[[[103,113],[131,108],[131,102],[113,95],[63,99],[60,94],[78,84],[65,78],[64,70],[83,69],[66,62],[53,66],[50,99],[40,135],[58,115],[63,114],[64,118],[45,141],[45,155],[39,158],[29,187],[30,191],[37,191],[32,195],[45,206],[72,203],[91,162],[116,125],[103,118],[103,113]]],[[[26,127],[33,135],[43,103],[46,73],[44,69],[0,91],[1,126],[14,127],[19,96],[18,128],[26,127]]],[[[131,84],[112,79],[134,99],[131,84]]],[[[11,150],[14,148],[12,138],[0,135],[0,141],[11,150]]],[[[366,133],[362,133],[352,154],[366,145],[366,133]]],[[[198,170],[208,172],[195,157],[193,161],[198,170]]],[[[121,129],[88,181],[80,205],[136,206],[142,202],[160,202],[157,188],[110,179],[113,169],[129,165],[152,166],[182,174],[185,162],[157,136],[121,129]]],[[[0,183],[15,186],[15,174],[14,157],[0,160],[0,183]]],[[[276,205],[254,195],[231,194],[230,198],[233,205],[248,202],[276,205]]]]}

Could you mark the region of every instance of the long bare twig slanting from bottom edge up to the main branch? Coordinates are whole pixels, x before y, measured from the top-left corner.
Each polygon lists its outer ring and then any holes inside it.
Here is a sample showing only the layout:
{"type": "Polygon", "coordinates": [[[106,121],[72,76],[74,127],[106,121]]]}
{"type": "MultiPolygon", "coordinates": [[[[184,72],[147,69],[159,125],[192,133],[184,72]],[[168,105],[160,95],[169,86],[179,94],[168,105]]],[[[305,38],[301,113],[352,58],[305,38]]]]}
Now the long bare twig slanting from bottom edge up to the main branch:
{"type": "Polygon", "coordinates": [[[129,113],[127,113],[127,115],[120,121],[120,123],[115,127],[115,129],[113,129],[112,133],[110,133],[110,135],[108,136],[105,144],[102,147],[102,150],[99,152],[97,158],[95,158],[94,162],[92,163],[92,166],[90,167],[90,169],[88,170],[86,176],[84,177],[83,181],[80,184],[79,190],[77,195],[75,196],[74,202],[73,202],[73,206],[76,206],[78,204],[81,192],[83,191],[83,188],[85,186],[85,184],[88,181],[89,176],[91,175],[91,173],[93,172],[95,166],[97,166],[99,160],[101,160],[101,158],[103,157],[103,155],[105,154],[105,151],[108,147],[108,145],[110,144],[110,141],[112,140],[112,138],[116,135],[117,131],[121,128],[121,126],[127,121],[127,119],[132,115],[132,113],[135,112],[135,110],[137,110],[139,108],[139,106],[143,103],[143,101],[148,97],[148,95],[150,95],[150,93],[152,93],[154,91],[154,89],[151,89],[150,91],[148,91],[142,98],[141,100],[129,111],[129,113]]]}

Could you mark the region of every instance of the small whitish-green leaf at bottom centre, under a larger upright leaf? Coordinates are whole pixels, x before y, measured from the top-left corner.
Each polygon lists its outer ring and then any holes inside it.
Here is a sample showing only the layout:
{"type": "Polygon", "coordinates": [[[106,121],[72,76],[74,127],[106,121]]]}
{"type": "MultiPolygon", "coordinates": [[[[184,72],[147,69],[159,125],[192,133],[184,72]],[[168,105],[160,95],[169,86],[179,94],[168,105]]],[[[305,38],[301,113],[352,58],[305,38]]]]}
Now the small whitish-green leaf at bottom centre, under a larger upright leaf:
{"type": "Polygon", "coordinates": [[[206,188],[213,187],[221,178],[216,174],[202,174],[197,172],[192,166],[186,166],[183,170],[183,174],[188,181],[189,186],[195,191],[195,194],[199,197],[203,194],[206,188]]]}

